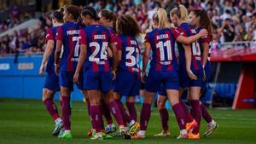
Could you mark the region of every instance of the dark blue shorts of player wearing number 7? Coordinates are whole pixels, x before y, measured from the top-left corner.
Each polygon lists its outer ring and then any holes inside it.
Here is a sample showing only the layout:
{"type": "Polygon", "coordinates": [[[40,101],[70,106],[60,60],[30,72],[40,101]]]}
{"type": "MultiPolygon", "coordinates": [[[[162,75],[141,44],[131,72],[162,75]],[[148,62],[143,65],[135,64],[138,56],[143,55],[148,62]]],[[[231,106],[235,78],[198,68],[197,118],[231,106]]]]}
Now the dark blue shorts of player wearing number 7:
{"type": "MultiPolygon", "coordinates": [[[[73,75],[74,72],[60,72],[60,85],[73,90],[73,75]]],[[[81,72],[79,74],[79,84],[77,84],[78,89],[84,89],[84,75],[81,72]]]]}

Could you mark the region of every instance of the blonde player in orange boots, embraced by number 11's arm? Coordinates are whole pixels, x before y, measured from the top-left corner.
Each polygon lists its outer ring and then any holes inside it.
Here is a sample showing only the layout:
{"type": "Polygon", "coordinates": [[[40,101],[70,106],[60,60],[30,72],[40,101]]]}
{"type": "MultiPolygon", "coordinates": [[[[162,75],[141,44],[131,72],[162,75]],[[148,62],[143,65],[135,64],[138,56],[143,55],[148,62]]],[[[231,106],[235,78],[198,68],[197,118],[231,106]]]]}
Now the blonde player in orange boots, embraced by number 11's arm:
{"type": "MultiPolygon", "coordinates": [[[[171,10],[172,23],[177,26],[177,31],[182,33],[184,37],[194,36],[196,34],[193,26],[189,25],[189,14],[187,9],[183,5],[179,5],[177,8],[171,10]]],[[[201,50],[199,43],[196,41],[190,45],[184,45],[177,43],[179,53],[179,81],[181,88],[189,88],[189,102],[191,104],[191,115],[189,110],[183,104],[185,110],[187,122],[189,125],[196,125],[197,127],[189,132],[189,139],[200,139],[200,123],[201,123],[201,106],[200,106],[200,91],[203,77],[203,68],[201,65],[201,50]],[[189,48],[190,47],[190,48],[189,48]],[[189,54],[188,54],[189,53],[189,54]],[[185,57],[185,55],[189,57],[185,57]],[[195,122],[196,121],[196,122],[195,122]]],[[[182,93],[181,93],[182,94],[182,93]]]]}

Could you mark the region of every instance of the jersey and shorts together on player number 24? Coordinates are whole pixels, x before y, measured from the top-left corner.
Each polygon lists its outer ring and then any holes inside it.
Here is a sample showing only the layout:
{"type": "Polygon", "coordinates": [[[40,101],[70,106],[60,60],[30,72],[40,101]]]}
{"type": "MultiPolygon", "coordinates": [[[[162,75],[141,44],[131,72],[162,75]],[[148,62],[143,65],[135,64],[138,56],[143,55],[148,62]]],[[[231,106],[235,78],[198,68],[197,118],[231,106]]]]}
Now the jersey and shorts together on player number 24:
{"type": "Polygon", "coordinates": [[[81,32],[79,43],[87,46],[84,61],[85,88],[107,92],[112,89],[112,73],[106,51],[108,44],[112,43],[110,32],[101,25],[87,26],[81,32]]]}

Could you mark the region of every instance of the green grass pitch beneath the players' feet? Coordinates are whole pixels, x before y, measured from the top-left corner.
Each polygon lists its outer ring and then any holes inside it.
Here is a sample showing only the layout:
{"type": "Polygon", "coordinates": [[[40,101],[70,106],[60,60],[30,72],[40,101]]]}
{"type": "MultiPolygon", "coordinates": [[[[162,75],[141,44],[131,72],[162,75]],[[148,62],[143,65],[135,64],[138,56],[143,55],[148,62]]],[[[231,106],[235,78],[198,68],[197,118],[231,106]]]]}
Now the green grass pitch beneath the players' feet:
{"type": "MultiPolygon", "coordinates": [[[[140,108],[137,108],[140,110],[140,108]]],[[[178,128],[176,119],[170,111],[171,137],[154,137],[160,132],[160,117],[154,108],[148,124],[146,139],[91,141],[86,135],[90,130],[90,120],[87,116],[86,106],[83,102],[73,102],[72,113],[72,140],[60,140],[51,136],[54,121],[49,117],[41,101],[0,99],[0,143],[1,144],[255,144],[256,143],[256,110],[211,110],[212,115],[219,124],[218,130],[210,137],[200,141],[176,140],[178,128]]],[[[139,116],[138,112],[138,116],[139,116]]],[[[202,120],[201,135],[206,130],[206,122],[202,120]]]]}

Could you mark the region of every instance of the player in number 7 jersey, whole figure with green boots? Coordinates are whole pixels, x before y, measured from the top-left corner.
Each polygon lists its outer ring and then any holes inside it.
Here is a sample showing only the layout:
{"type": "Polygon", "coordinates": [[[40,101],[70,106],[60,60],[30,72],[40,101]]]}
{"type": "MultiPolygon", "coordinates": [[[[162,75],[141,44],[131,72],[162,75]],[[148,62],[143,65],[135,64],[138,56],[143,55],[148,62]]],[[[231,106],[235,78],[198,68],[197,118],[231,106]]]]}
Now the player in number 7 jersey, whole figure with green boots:
{"type": "MultiPolygon", "coordinates": [[[[81,25],[77,22],[80,9],[69,5],[64,9],[63,20],[65,24],[57,28],[55,49],[55,73],[60,77],[62,120],[65,132],[60,138],[72,138],[71,135],[71,109],[70,94],[73,90],[73,74],[79,58],[79,29],[81,25]],[[63,49],[61,50],[63,44],[63,49]],[[62,54],[61,54],[62,51],[62,54]],[[60,60],[61,57],[61,60],[60,60]]],[[[83,90],[83,75],[79,77],[78,88],[83,90]]],[[[85,91],[83,90],[85,95],[85,91]]]]}

